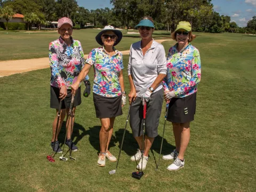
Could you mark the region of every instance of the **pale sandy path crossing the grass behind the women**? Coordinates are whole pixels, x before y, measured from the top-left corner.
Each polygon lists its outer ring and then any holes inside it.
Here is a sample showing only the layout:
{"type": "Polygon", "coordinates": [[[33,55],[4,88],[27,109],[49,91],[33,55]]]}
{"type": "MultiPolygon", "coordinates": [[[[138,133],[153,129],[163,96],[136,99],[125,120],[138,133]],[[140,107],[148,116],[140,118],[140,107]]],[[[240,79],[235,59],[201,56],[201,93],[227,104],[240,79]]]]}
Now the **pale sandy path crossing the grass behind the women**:
{"type": "MultiPolygon", "coordinates": [[[[171,39],[157,39],[156,42],[162,43],[164,41],[171,41],[171,39]]],[[[130,53],[130,50],[121,51],[124,55],[130,53]]],[[[87,58],[87,54],[84,55],[87,58]]],[[[21,59],[0,61],[0,77],[9,76],[17,73],[24,73],[31,70],[44,69],[49,66],[49,58],[38,59],[21,59]]]]}

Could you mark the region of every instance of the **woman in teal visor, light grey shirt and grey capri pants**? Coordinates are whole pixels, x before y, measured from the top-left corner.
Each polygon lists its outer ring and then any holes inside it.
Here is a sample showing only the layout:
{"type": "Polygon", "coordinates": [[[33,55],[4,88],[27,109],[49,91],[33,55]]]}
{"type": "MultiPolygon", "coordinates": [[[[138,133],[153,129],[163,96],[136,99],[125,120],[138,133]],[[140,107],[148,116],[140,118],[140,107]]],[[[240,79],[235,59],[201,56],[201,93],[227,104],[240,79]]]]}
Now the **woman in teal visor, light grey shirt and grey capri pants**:
{"type": "Polygon", "coordinates": [[[167,68],[164,47],[154,41],[152,37],[155,29],[153,19],[143,17],[135,27],[139,28],[141,41],[131,45],[128,77],[131,86],[129,93],[129,102],[131,104],[130,126],[139,149],[131,157],[131,161],[140,160],[137,169],[144,170],[148,162],[149,150],[158,135],[157,128],[163,104],[162,79],[166,75],[167,68]],[[145,122],[145,148],[143,150],[142,109],[145,102],[147,104],[147,115],[145,122]],[[141,151],[143,151],[143,157],[141,157],[141,151]]]}

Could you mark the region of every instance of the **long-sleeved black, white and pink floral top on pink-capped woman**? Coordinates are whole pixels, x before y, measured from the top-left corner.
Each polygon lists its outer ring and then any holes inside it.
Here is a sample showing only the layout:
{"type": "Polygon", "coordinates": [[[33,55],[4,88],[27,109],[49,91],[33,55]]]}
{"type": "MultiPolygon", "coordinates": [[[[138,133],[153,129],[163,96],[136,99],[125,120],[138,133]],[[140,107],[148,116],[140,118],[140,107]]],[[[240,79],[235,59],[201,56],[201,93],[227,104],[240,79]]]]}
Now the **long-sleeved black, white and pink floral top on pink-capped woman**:
{"type": "MultiPolygon", "coordinates": [[[[60,37],[49,45],[49,59],[51,67],[51,86],[67,86],[76,82],[79,73],[84,67],[84,52],[81,43],[71,37],[71,45],[68,46],[60,37]]],[[[88,80],[86,76],[84,81],[88,80]]]]}

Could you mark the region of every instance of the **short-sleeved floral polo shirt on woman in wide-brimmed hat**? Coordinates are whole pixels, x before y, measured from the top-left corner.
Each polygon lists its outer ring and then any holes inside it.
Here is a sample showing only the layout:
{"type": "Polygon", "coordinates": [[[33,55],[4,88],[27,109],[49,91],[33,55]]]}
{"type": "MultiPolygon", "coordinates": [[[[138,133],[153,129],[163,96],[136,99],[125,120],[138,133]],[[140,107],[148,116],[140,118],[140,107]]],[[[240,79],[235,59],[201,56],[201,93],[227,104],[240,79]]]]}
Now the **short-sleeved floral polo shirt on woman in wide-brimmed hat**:
{"type": "Polygon", "coordinates": [[[115,54],[110,57],[103,47],[93,49],[86,59],[94,68],[93,93],[103,97],[121,95],[119,73],[124,68],[123,55],[113,47],[115,54]]]}

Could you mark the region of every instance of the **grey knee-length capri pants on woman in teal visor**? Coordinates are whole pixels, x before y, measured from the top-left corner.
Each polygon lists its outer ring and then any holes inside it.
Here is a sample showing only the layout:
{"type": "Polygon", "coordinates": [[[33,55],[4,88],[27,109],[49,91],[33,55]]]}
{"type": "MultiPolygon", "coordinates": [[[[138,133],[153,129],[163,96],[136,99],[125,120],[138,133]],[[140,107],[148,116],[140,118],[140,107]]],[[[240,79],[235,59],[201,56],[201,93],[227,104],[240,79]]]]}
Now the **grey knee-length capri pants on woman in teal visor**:
{"type": "MultiPolygon", "coordinates": [[[[145,134],[150,138],[158,135],[158,124],[161,116],[163,105],[163,90],[159,90],[151,94],[149,102],[147,102],[147,112],[145,119],[145,134]]],[[[136,98],[130,109],[130,126],[133,137],[142,135],[143,126],[143,106],[141,98],[136,98]]]]}

